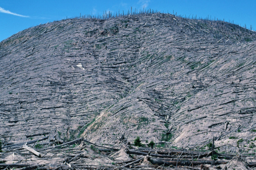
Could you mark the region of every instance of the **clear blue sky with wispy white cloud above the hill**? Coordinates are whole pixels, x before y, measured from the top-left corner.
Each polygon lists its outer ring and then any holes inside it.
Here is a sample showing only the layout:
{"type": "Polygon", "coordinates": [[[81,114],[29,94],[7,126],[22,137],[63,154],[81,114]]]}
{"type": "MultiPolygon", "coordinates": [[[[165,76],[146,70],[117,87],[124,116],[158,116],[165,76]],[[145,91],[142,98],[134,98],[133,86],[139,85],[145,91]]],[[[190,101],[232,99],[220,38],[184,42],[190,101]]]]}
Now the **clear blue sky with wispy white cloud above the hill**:
{"type": "Polygon", "coordinates": [[[256,0],[1,0],[0,41],[26,28],[81,15],[102,15],[105,11],[153,9],[160,12],[177,12],[186,17],[225,19],[256,30],[256,0]]]}

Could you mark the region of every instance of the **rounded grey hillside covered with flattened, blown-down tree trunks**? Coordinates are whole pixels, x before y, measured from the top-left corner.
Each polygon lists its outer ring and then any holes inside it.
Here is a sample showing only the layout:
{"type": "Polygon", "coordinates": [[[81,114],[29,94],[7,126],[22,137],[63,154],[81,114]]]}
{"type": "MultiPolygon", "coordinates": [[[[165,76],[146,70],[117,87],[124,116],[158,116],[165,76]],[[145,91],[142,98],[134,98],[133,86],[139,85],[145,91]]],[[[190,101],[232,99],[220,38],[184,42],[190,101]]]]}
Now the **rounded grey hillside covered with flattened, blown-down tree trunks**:
{"type": "Polygon", "coordinates": [[[0,43],[0,138],[139,136],[201,149],[215,137],[221,150],[246,149],[256,137],[255,40],[234,24],[169,14],[26,29],[0,43]]]}

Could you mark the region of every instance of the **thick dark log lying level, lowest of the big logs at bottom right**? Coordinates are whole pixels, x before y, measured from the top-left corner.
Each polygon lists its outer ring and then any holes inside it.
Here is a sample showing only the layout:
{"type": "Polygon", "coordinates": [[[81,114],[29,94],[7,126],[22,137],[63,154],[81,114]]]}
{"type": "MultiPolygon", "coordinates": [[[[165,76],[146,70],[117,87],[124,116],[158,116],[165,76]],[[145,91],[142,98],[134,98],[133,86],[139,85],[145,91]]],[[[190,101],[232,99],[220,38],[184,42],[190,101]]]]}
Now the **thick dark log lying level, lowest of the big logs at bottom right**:
{"type": "Polygon", "coordinates": [[[228,163],[228,161],[225,160],[197,160],[197,161],[193,161],[193,160],[162,160],[162,159],[157,159],[157,158],[152,158],[149,157],[148,160],[152,163],[152,164],[157,164],[157,165],[191,165],[193,163],[193,165],[200,165],[200,164],[212,164],[212,162],[215,162],[216,164],[226,164],[228,163]]]}

